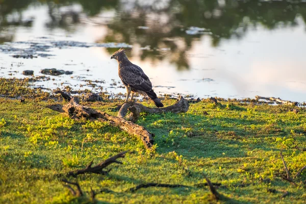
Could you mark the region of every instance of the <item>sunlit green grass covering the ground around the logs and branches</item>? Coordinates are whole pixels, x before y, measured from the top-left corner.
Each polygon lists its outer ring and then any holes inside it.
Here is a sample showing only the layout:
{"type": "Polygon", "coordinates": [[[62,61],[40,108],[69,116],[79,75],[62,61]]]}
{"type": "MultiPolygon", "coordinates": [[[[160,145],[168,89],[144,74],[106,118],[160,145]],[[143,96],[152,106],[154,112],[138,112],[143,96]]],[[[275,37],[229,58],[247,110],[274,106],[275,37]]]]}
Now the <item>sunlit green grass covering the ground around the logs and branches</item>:
{"type": "MultiPolygon", "coordinates": [[[[192,186],[205,183],[205,175],[222,184],[217,189],[223,195],[220,203],[303,203],[306,199],[302,182],[306,171],[296,179],[297,186],[284,181],[279,157],[279,149],[284,148],[292,175],[306,165],[306,152],[301,150],[306,147],[302,108],[296,114],[288,106],[235,101],[216,106],[204,100],[191,104],[185,114],[142,115],[137,123],[156,135],[156,146],[147,150],[139,138],[106,122],[73,120],[45,108],[58,102],[38,100],[47,98],[42,95],[26,98],[25,103],[0,98],[0,203],[86,203],[90,188],[114,191],[98,194],[100,203],[214,203],[208,187],[126,191],[141,183],[192,186]],[[130,152],[119,159],[123,165],[112,164],[108,175],[64,176],[124,150],[130,152]],[[86,196],[72,196],[61,182],[63,177],[79,182],[86,196]],[[281,198],[281,190],[289,195],[281,198]]],[[[113,108],[120,103],[85,105],[116,115],[113,108]]]]}

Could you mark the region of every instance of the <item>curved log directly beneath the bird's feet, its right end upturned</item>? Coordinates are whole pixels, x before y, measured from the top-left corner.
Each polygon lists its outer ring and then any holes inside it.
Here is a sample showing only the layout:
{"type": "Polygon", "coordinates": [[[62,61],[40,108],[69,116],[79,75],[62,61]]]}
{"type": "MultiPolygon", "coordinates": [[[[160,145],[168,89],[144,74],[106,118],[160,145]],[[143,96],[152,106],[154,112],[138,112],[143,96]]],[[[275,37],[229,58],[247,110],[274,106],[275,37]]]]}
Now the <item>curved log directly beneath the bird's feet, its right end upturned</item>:
{"type": "Polygon", "coordinates": [[[179,100],[172,106],[164,107],[164,108],[149,108],[143,106],[142,104],[134,103],[133,101],[129,101],[124,103],[119,112],[118,117],[124,118],[128,111],[131,111],[130,115],[126,118],[132,122],[136,122],[140,116],[140,113],[149,113],[149,114],[164,114],[164,113],[186,113],[189,109],[188,101],[180,96],[179,100]]]}

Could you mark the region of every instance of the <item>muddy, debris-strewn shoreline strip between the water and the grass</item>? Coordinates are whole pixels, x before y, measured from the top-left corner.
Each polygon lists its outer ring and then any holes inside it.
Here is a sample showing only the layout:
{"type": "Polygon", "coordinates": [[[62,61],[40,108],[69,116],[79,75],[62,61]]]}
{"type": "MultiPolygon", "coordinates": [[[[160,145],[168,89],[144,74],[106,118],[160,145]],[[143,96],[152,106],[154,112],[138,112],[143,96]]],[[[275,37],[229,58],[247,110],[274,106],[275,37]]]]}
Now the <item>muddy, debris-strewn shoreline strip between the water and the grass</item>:
{"type": "MultiPolygon", "coordinates": [[[[64,92],[68,94],[69,96],[80,96],[81,98],[91,98],[93,94],[95,94],[95,97],[101,97],[100,99],[84,99],[84,101],[103,101],[103,100],[124,100],[125,98],[125,88],[121,84],[117,83],[112,83],[110,86],[113,86],[114,88],[122,88],[122,92],[120,93],[111,93],[108,91],[94,91],[94,90],[89,90],[89,89],[83,89],[83,90],[73,90],[72,87],[66,86],[65,89],[49,89],[49,88],[44,88],[44,87],[37,87],[35,86],[35,82],[37,81],[46,81],[50,80],[49,77],[47,76],[39,76],[39,77],[31,77],[31,78],[23,78],[23,79],[7,79],[7,78],[0,78],[0,80],[5,80],[9,83],[14,84],[15,80],[18,80],[19,83],[23,83],[23,86],[29,88],[29,89],[34,89],[39,92],[46,92],[48,94],[48,99],[55,99],[55,98],[61,98],[61,94],[59,92],[64,92]]],[[[93,87],[97,87],[100,90],[104,90],[104,88],[109,88],[105,86],[104,81],[90,81],[90,80],[84,80],[88,83],[88,85],[91,85],[93,87]],[[101,85],[97,85],[97,84],[101,85]]],[[[260,99],[261,96],[256,96],[254,98],[221,98],[221,97],[194,97],[193,95],[188,95],[188,94],[180,94],[184,96],[189,103],[199,103],[200,101],[211,101],[212,103],[215,103],[216,105],[221,105],[222,103],[228,103],[228,102],[236,102],[236,103],[252,103],[254,105],[261,105],[261,104],[269,104],[269,105],[288,105],[292,107],[305,107],[306,103],[298,103],[295,101],[285,101],[285,103],[280,103],[275,100],[270,100],[269,97],[266,99],[260,99]],[[216,99],[216,100],[215,100],[216,99]],[[289,103],[289,104],[286,104],[289,103]]],[[[177,99],[179,98],[180,95],[177,95],[176,93],[172,94],[161,94],[159,97],[161,99],[177,99]]],[[[0,94],[0,97],[6,97],[6,98],[12,98],[12,99],[21,99],[25,98],[23,95],[19,95],[16,97],[11,97],[10,93],[6,94],[0,94]]],[[[28,96],[29,98],[29,96],[28,96]]],[[[31,98],[31,97],[30,97],[31,98]]],[[[146,101],[148,98],[139,96],[138,94],[135,95],[135,98],[138,101],[146,101]]],[[[275,98],[274,98],[275,99],[275,98]]],[[[280,98],[277,98],[280,99],[280,98]]],[[[281,99],[280,99],[281,100],[281,99]]]]}

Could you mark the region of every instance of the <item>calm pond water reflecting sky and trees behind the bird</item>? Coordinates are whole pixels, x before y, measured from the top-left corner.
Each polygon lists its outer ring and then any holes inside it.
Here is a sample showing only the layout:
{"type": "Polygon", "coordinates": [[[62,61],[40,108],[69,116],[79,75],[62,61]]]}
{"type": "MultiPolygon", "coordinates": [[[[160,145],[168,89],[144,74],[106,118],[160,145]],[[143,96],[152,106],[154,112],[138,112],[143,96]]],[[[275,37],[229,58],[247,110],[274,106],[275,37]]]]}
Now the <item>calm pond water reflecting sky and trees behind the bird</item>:
{"type": "Polygon", "coordinates": [[[159,94],[306,100],[304,1],[46,2],[0,3],[3,77],[57,68],[73,74],[34,85],[125,92],[110,57],[130,46],[159,94]]]}

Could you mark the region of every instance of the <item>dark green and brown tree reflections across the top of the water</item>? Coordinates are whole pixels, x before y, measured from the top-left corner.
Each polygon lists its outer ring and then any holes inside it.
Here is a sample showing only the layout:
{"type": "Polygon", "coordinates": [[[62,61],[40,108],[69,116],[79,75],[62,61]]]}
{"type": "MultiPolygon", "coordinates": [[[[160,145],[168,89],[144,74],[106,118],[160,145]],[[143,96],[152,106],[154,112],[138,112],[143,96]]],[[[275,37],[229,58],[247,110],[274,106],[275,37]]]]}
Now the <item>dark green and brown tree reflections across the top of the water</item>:
{"type": "Polygon", "coordinates": [[[297,15],[306,20],[306,3],[302,1],[202,0],[191,3],[185,0],[3,0],[0,3],[1,27],[31,25],[31,21],[23,22],[22,11],[38,3],[48,5],[50,22],[46,26],[64,29],[80,22],[81,11],[88,16],[96,16],[101,11],[115,10],[115,18],[108,24],[109,33],[100,41],[155,48],[143,50],[142,59],[163,59],[165,55],[158,49],[170,47],[173,52],[170,59],[173,58],[178,68],[188,68],[185,53],[201,35],[212,36],[212,46],[218,46],[222,39],[242,38],[258,24],[267,29],[276,29],[294,27],[297,15]],[[61,9],[76,4],[81,5],[82,9],[61,9]],[[12,19],[12,14],[17,19],[12,19]],[[190,27],[205,28],[209,32],[188,35],[186,30],[190,27]]]}

